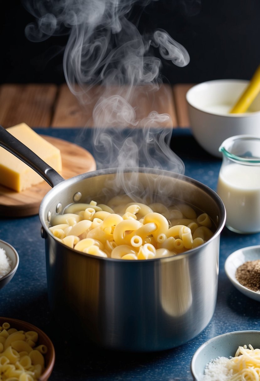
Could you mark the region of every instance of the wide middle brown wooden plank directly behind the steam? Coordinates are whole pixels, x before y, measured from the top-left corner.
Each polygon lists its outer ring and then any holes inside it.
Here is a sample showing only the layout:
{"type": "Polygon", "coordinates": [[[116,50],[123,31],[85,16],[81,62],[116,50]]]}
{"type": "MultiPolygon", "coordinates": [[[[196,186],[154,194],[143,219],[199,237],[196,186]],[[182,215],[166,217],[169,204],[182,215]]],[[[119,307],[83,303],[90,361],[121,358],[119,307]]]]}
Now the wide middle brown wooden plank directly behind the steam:
{"type": "MultiPolygon", "coordinates": [[[[67,85],[61,85],[51,126],[94,127],[95,122],[93,121],[92,113],[98,100],[101,97],[109,99],[117,95],[127,99],[127,102],[135,112],[135,120],[140,121],[138,126],[143,127],[144,123],[147,123],[146,120],[144,122],[142,120],[148,117],[152,111],[156,111],[158,114],[169,114],[170,119],[164,122],[165,127],[177,126],[173,92],[170,85],[165,84],[158,89],[154,89],[154,86],[151,85],[136,86],[134,90],[130,91],[129,89],[128,86],[109,86],[108,88],[103,86],[86,86],[85,89],[75,89],[78,93],[75,96],[67,85]]],[[[106,123],[106,120],[104,123],[106,123]]],[[[116,117],[113,121],[113,126],[129,127],[127,121],[122,122],[122,119],[117,120],[116,117]]]]}

